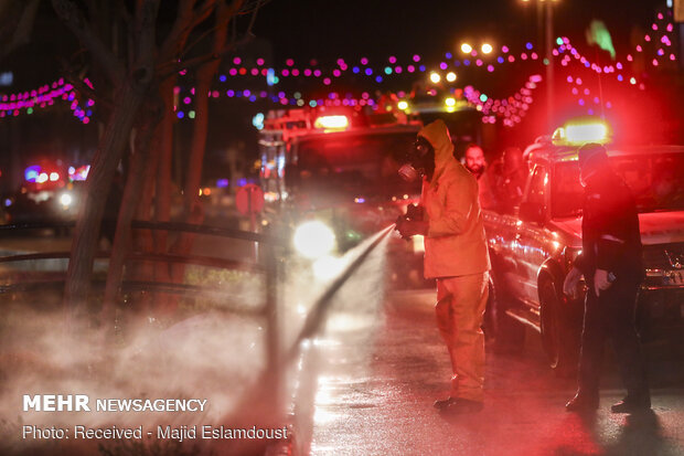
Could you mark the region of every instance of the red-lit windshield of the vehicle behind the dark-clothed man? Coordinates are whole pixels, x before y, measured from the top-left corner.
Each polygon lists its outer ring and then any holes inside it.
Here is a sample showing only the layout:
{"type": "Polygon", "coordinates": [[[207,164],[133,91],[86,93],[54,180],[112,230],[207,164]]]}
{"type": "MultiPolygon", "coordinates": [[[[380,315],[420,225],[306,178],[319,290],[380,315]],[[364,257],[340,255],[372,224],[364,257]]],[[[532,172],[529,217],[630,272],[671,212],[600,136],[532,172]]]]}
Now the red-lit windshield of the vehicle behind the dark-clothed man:
{"type": "MultiPolygon", "coordinates": [[[[684,210],[684,153],[652,153],[611,157],[637,201],[639,212],[684,210]]],[[[581,214],[584,190],[577,161],[556,165],[552,185],[555,219],[581,214]]]]}

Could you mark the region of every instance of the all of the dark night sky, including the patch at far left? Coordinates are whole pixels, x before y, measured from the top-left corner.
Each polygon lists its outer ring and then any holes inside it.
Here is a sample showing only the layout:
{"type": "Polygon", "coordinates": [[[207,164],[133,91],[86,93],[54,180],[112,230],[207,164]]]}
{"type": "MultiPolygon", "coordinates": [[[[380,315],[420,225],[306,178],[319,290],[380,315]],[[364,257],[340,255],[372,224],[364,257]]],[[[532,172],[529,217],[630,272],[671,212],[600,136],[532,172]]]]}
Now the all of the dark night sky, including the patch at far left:
{"type": "MultiPolygon", "coordinates": [[[[586,46],[585,29],[591,19],[600,19],[620,54],[630,46],[630,30],[634,25],[645,30],[661,4],[664,2],[658,0],[557,0],[555,34],[586,46]]],[[[15,89],[31,88],[61,74],[64,62],[60,56],[77,59],[76,41],[58,23],[50,3],[42,3],[41,11],[31,43],[0,62],[1,67],[17,73],[15,89]]],[[[162,17],[163,11],[173,9],[162,10],[162,17]]],[[[249,19],[241,18],[238,28],[245,30],[249,19]]],[[[272,49],[276,65],[290,57],[298,64],[316,59],[329,65],[338,57],[362,56],[377,64],[389,55],[402,60],[415,53],[437,61],[464,40],[487,40],[494,47],[530,41],[542,50],[538,25],[535,0],[269,0],[258,12],[253,32],[261,47],[272,49]]]]}

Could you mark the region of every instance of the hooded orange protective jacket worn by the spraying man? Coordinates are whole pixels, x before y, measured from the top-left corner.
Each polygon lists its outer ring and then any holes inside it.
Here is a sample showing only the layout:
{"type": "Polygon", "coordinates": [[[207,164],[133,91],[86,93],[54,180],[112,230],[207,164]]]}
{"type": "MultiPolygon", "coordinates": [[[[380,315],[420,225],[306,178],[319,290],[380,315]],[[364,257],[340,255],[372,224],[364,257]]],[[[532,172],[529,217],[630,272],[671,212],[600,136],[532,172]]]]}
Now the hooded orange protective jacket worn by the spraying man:
{"type": "Polygon", "coordinates": [[[435,174],[423,181],[420,200],[429,223],[425,236],[425,277],[455,277],[490,269],[478,181],[453,158],[453,144],[442,120],[425,126],[435,148],[435,174]]]}

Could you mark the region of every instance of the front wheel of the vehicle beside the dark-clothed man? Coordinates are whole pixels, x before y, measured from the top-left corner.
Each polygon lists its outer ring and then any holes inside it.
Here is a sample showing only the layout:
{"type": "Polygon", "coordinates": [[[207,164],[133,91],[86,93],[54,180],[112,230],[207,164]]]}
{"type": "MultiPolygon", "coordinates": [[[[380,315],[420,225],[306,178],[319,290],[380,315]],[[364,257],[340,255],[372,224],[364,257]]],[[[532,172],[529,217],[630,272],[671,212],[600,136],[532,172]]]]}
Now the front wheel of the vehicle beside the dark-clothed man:
{"type": "Polygon", "coordinates": [[[539,300],[542,344],[548,365],[560,377],[573,375],[577,369],[579,340],[551,278],[541,282],[539,300]]]}

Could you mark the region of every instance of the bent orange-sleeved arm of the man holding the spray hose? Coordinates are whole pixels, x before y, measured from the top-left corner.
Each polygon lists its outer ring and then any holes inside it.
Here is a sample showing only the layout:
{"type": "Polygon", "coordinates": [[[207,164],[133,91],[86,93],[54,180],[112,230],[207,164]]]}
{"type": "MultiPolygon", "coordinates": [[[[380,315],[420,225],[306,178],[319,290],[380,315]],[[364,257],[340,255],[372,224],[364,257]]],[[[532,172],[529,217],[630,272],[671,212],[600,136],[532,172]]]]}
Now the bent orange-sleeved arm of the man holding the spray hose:
{"type": "Polygon", "coordinates": [[[445,208],[438,219],[429,220],[428,237],[448,236],[462,233],[468,226],[472,211],[477,206],[477,185],[467,179],[459,179],[447,189],[445,208]]]}

